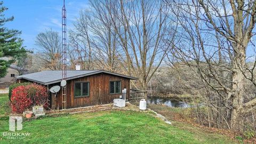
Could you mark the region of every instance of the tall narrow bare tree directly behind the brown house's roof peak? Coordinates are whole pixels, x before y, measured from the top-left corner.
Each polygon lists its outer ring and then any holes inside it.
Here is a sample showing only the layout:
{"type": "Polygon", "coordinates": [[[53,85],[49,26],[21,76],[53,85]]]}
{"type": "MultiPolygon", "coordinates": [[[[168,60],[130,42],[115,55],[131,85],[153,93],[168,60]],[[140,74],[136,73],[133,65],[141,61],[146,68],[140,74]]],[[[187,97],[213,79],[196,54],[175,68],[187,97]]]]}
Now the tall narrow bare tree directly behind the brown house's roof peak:
{"type": "Polygon", "coordinates": [[[114,25],[104,1],[90,1],[91,5],[91,25],[93,47],[96,51],[96,63],[101,69],[117,72],[120,71],[118,65],[118,38],[114,25]]]}

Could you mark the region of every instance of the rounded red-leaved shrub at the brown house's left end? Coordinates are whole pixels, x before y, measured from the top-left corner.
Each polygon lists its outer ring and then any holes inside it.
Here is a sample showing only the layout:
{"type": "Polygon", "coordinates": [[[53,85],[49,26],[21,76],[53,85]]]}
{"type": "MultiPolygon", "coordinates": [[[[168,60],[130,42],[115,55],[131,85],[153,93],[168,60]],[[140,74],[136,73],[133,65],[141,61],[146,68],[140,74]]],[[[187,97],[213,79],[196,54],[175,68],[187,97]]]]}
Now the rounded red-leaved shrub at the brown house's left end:
{"type": "Polygon", "coordinates": [[[43,105],[46,108],[47,97],[47,89],[42,85],[30,84],[15,87],[11,95],[12,112],[21,114],[24,110],[37,105],[43,105]]]}

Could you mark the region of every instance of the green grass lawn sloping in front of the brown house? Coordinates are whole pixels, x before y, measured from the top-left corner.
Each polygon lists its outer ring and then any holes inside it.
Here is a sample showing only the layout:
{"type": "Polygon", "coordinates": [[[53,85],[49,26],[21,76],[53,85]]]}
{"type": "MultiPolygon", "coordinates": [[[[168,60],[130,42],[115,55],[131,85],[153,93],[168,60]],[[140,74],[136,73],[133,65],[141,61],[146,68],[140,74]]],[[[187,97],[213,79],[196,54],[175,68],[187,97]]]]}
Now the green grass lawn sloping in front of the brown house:
{"type": "MultiPolygon", "coordinates": [[[[1,98],[0,101],[2,114],[6,107],[1,98]]],[[[29,132],[30,135],[23,140],[7,140],[2,132],[10,132],[8,119],[1,117],[0,143],[233,143],[222,135],[198,135],[166,124],[152,113],[128,110],[46,116],[25,121],[23,130],[16,132],[29,132]]]]}

